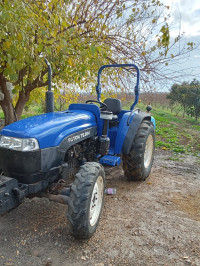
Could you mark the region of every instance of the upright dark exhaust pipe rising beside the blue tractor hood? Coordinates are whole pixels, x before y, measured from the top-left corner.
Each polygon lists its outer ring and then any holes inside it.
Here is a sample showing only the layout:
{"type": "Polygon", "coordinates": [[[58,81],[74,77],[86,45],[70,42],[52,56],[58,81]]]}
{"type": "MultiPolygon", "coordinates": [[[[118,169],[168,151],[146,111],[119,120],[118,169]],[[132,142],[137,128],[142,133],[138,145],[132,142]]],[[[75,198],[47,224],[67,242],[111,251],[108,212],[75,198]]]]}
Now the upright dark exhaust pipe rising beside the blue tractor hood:
{"type": "Polygon", "coordinates": [[[48,90],[46,91],[46,113],[54,112],[54,95],[51,91],[51,65],[45,58],[45,63],[48,66],[48,90]]]}

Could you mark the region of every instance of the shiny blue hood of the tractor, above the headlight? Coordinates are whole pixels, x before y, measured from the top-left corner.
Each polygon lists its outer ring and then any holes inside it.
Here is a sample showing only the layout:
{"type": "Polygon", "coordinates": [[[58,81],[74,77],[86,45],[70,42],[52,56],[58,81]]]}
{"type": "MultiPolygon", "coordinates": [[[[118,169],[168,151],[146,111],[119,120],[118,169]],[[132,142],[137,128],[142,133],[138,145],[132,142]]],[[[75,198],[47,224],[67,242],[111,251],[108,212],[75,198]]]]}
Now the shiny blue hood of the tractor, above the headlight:
{"type": "Polygon", "coordinates": [[[36,138],[40,148],[58,146],[66,137],[87,128],[96,127],[94,114],[73,110],[29,117],[8,125],[0,135],[16,138],[36,138]]]}

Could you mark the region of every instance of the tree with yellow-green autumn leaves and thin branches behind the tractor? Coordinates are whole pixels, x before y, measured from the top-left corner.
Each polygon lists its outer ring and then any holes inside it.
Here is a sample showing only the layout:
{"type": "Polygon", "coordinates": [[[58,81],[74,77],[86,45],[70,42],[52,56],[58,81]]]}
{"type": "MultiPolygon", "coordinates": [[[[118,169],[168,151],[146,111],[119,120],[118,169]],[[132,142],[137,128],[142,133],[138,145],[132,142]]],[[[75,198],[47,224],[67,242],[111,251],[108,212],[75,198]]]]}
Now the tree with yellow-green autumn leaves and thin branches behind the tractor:
{"type": "Polygon", "coordinates": [[[0,106],[5,124],[20,119],[31,99],[41,98],[43,89],[38,88],[47,85],[44,58],[52,65],[53,83],[69,88],[94,85],[98,68],[106,63],[136,63],[146,84],[159,76],[158,64],[172,59],[170,47],[178,41],[170,44],[167,10],[155,0],[1,1],[0,106]]]}

